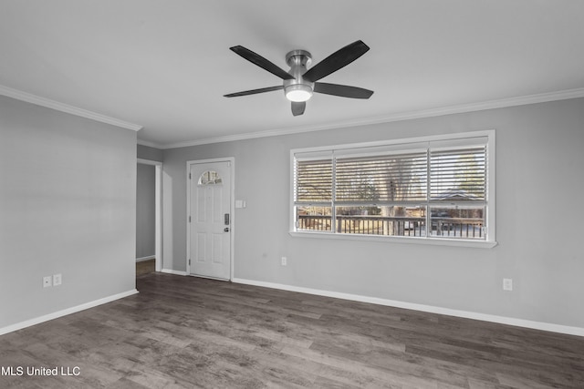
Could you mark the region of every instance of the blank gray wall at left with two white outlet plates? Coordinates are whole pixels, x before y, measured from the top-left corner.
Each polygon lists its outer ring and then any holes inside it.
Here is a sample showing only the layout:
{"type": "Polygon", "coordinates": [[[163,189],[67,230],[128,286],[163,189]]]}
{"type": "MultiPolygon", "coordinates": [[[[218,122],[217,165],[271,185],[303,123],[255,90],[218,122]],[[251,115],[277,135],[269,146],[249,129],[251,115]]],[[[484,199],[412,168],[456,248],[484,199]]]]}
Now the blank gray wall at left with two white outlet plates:
{"type": "Polygon", "coordinates": [[[0,96],[0,328],[133,291],[135,212],[136,132],[0,96]]]}

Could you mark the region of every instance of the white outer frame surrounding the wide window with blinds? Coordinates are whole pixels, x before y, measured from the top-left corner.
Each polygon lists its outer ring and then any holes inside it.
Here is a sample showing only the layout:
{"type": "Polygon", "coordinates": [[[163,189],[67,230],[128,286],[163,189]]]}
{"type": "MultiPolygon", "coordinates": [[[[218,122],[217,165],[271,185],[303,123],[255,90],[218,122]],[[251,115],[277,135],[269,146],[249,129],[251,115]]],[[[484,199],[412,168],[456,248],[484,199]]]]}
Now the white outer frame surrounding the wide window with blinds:
{"type": "Polygon", "coordinates": [[[444,134],[417,138],[401,138],[391,139],[376,142],[366,143],[351,143],[345,145],[316,147],[316,148],[294,148],[290,150],[290,200],[289,200],[289,233],[293,237],[301,238],[316,238],[316,239],[340,239],[344,241],[384,241],[395,243],[413,243],[413,244],[432,244],[442,246],[461,246],[461,247],[475,247],[475,248],[492,248],[496,246],[495,240],[495,129],[472,131],[456,134],[444,134]],[[331,150],[341,151],[356,149],[356,148],[401,148],[407,147],[407,144],[419,145],[423,142],[437,142],[443,141],[444,144],[464,143],[464,139],[472,138],[487,138],[486,141],[486,212],[485,212],[485,240],[463,240],[463,239],[448,239],[443,237],[401,237],[401,236],[387,236],[387,235],[361,235],[349,233],[335,233],[330,231],[307,231],[296,230],[296,214],[295,214],[295,199],[294,199],[294,179],[295,179],[295,156],[299,153],[322,153],[331,150]]]}

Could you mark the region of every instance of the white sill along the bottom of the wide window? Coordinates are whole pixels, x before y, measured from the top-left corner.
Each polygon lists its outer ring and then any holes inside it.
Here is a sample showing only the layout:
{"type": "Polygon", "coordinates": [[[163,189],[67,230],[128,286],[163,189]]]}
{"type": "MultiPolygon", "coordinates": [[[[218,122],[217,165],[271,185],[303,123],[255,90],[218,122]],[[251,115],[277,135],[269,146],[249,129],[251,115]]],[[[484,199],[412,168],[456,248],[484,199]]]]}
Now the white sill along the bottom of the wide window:
{"type": "Polygon", "coordinates": [[[296,238],[310,239],[331,239],[341,241],[379,241],[384,243],[407,243],[407,244],[429,244],[433,246],[454,246],[454,247],[473,247],[476,249],[492,249],[496,246],[496,241],[463,241],[447,238],[401,238],[374,235],[358,234],[337,234],[330,232],[298,232],[290,231],[291,236],[296,238]]]}

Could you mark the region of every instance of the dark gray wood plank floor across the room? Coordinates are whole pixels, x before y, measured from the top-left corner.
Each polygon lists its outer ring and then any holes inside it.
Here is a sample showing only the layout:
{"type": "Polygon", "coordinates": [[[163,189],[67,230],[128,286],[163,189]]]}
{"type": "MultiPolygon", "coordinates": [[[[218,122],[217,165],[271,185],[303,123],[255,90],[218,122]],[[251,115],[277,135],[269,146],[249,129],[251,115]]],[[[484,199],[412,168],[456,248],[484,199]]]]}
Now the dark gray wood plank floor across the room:
{"type": "Polygon", "coordinates": [[[584,387],[581,337],[156,272],[137,283],[0,336],[0,364],[25,369],[0,387],[584,387]]]}

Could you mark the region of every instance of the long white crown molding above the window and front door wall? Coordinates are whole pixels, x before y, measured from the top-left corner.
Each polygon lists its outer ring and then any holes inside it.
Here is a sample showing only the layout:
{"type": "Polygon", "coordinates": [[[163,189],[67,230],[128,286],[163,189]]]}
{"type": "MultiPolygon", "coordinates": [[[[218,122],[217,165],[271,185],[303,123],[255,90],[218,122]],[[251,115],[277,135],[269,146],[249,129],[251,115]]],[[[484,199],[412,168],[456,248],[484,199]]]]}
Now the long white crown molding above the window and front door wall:
{"type": "Polygon", "coordinates": [[[299,134],[303,132],[321,131],[325,129],[334,128],[348,128],[357,126],[366,126],[379,123],[390,123],[393,121],[413,120],[417,118],[433,118],[444,115],[454,115],[466,112],[482,111],[486,109],[505,108],[525,106],[528,104],[546,103],[556,100],[567,100],[569,98],[584,97],[584,87],[575,89],[561,90],[557,92],[541,93],[537,95],[528,95],[522,97],[509,97],[497,100],[489,100],[479,103],[463,104],[449,107],[438,107],[432,109],[422,109],[411,112],[400,112],[391,115],[384,115],[373,118],[360,118],[350,121],[342,121],[336,123],[328,123],[319,126],[302,126],[296,128],[276,128],[266,131],[249,132],[238,135],[228,135],[224,137],[204,138],[193,141],[178,142],[165,145],[152,146],[155,148],[186,148],[191,146],[207,145],[212,143],[232,142],[235,140],[245,140],[253,138],[276,137],[281,135],[299,134]]]}

